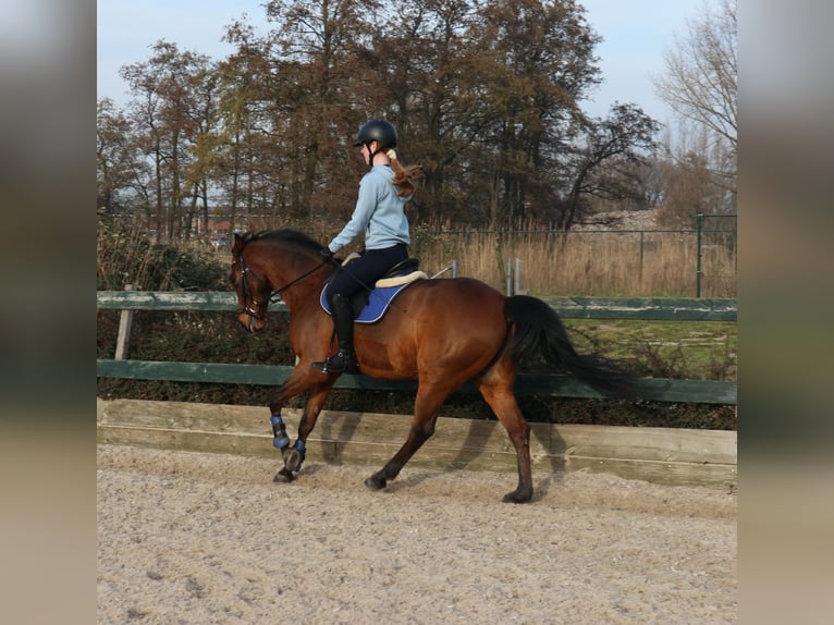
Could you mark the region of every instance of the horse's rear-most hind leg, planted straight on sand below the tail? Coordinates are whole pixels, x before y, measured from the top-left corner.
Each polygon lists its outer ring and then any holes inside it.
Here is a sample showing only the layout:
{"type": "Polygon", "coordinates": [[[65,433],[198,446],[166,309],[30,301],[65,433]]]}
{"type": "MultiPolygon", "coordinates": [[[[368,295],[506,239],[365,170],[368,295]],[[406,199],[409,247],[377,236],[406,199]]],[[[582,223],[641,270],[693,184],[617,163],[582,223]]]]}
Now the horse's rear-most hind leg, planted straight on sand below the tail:
{"type": "MultiPolygon", "coordinates": [[[[501,367],[499,363],[496,367],[501,367]]],[[[515,448],[518,463],[518,486],[513,492],[504,495],[504,501],[525,503],[532,498],[532,469],[530,466],[530,426],[522,415],[518,403],[513,394],[515,376],[511,373],[510,383],[493,369],[487,378],[479,382],[483,399],[495,413],[498,420],[504,426],[510,440],[515,448]]]]}

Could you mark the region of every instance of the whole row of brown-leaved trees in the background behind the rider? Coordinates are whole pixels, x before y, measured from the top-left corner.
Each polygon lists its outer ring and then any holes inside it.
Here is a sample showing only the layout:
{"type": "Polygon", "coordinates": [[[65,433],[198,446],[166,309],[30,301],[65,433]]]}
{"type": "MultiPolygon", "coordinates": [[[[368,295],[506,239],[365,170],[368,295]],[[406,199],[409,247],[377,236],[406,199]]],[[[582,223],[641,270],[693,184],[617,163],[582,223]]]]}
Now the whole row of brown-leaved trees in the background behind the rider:
{"type": "Polygon", "coordinates": [[[353,209],[364,166],[349,146],[376,117],[424,166],[412,213],[424,222],[566,230],[593,197],[641,201],[638,161],[657,126],[631,106],[582,114],[599,37],[573,0],[265,7],[274,28],[232,24],[236,50],[217,65],[158,41],[122,69],[149,168],[146,226],[160,240],[188,236],[210,208],[231,228],[327,235],[353,209]]]}

